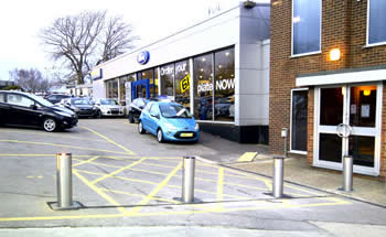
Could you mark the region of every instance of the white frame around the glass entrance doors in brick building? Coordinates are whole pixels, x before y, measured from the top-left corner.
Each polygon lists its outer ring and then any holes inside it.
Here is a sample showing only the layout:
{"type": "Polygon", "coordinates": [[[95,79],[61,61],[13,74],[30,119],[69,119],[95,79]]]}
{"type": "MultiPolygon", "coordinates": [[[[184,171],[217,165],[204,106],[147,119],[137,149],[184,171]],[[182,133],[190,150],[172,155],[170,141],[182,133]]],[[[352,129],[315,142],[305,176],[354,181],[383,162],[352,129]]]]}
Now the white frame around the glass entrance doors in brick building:
{"type": "MultiPolygon", "coordinates": [[[[318,86],[314,88],[314,119],[313,119],[313,166],[318,168],[326,168],[332,170],[343,170],[343,162],[330,162],[330,161],[322,161],[319,160],[319,138],[320,138],[320,96],[321,96],[321,88],[336,88],[336,87],[344,87],[345,88],[345,96],[343,99],[343,122],[345,120],[350,119],[349,111],[350,110],[350,88],[355,86],[368,86],[368,85],[375,85],[377,87],[377,97],[376,97],[376,116],[375,116],[375,148],[374,148],[374,168],[366,168],[361,165],[354,165],[354,172],[361,173],[361,174],[367,174],[373,176],[379,175],[379,169],[380,169],[380,141],[382,141],[382,108],[383,108],[383,84],[379,82],[374,83],[364,83],[364,84],[336,84],[336,85],[329,85],[329,86],[318,86]],[[349,118],[347,118],[349,116],[349,118]]],[[[361,131],[365,131],[366,128],[356,127],[360,128],[361,131]]],[[[357,130],[357,129],[356,129],[357,130]]],[[[355,127],[353,129],[355,131],[355,127]]],[[[360,136],[363,136],[360,131],[355,131],[356,133],[360,133],[360,136]]],[[[323,130],[322,133],[332,133],[336,134],[335,130],[326,129],[323,130]]],[[[373,136],[369,136],[373,137],[373,136]]],[[[346,139],[345,142],[349,142],[349,139],[346,139]]],[[[343,155],[343,142],[342,142],[342,155],[343,155]]],[[[347,148],[346,143],[346,148],[347,148]]],[[[343,159],[342,159],[343,160],[343,159]]]]}

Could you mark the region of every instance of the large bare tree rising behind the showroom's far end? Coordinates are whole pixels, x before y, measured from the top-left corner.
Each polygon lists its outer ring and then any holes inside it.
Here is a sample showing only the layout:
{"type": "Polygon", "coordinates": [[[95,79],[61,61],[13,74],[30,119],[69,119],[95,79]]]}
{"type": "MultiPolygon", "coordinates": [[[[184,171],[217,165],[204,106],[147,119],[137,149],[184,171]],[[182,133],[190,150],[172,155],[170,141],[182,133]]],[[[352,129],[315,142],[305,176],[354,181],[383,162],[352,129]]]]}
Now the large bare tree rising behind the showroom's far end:
{"type": "Polygon", "coordinates": [[[64,61],[78,84],[97,63],[131,49],[131,26],[121,17],[107,18],[107,11],[86,11],[58,18],[39,34],[55,61],[64,61]]]}

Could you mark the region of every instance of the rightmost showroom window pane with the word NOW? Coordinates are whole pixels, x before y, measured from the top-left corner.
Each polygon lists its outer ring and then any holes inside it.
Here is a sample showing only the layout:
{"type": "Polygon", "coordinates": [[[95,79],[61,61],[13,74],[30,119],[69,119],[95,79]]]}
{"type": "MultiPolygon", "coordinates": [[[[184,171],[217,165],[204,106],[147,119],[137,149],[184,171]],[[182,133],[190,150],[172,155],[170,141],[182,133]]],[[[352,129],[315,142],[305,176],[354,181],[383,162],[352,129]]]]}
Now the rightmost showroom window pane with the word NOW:
{"type": "Polygon", "coordinates": [[[214,54],[214,120],[234,121],[235,117],[235,52],[234,49],[214,54]]]}

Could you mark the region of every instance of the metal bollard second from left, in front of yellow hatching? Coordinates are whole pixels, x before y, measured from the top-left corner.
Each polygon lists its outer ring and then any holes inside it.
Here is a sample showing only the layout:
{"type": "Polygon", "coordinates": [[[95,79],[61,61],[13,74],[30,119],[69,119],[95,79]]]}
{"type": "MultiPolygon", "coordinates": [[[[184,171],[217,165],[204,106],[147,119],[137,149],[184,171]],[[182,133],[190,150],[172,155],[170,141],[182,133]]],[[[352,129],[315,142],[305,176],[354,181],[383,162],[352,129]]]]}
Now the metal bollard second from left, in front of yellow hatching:
{"type": "Polygon", "coordinates": [[[183,158],[182,201],[185,203],[193,203],[194,201],[194,166],[195,157],[183,158]]]}

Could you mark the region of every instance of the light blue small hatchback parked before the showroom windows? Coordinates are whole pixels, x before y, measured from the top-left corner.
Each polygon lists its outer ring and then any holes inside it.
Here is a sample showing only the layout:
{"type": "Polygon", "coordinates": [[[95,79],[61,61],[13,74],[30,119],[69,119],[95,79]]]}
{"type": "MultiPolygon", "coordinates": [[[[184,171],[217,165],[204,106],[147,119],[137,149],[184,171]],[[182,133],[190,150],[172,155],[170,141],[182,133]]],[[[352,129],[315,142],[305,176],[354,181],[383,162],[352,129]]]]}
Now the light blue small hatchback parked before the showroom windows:
{"type": "Polygon", "coordinates": [[[139,133],[146,131],[163,141],[192,141],[200,138],[200,127],[185,107],[170,101],[150,101],[142,110],[139,133]]]}

